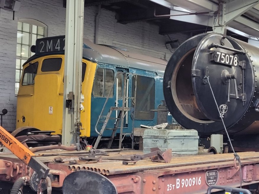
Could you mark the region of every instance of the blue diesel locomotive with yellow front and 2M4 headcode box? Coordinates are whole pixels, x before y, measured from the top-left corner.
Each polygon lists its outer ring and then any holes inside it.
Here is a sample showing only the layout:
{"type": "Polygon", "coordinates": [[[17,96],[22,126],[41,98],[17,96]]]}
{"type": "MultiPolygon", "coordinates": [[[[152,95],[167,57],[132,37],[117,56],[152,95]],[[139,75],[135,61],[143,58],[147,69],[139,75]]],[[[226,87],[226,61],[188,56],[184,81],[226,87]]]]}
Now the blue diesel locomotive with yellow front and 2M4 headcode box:
{"type": "MultiPolygon", "coordinates": [[[[34,47],[35,55],[24,63],[17,95],[16,127],[20,129],[13,135],[25,135],[35,131],[35,128],[53,131],[52,134],[55,135],[62,134],[64,41],[64,36],[38,39],[34,47]]],[[[162,92],[166,64],[167,61],[163,59],[134,54],[111,46],[96,45],[84,39],[84,110],[81,111],[81,137],[88,137],[89,140],[97,137],[95,125],[100,131],[110,107],[122,106],[126,75],[126,106],[135,107],[135,115],[133,122],[133,114],[127,112],[123,122],[124,133],[131,133],[132,129],[140,127],[140,124],[171,123],[172,116],[167,112],[154,111],[167,110],[162,92]],[[135,104],[132,96],[135,97],[135,104]],[[106,106],[103,107],[106,99],[106,106]],[[103,115],[100,115],[102,109],[103,115]]],[[[118,114],[114,111],[111,117],[117,118],[118,114]]],[[[114,122],[110,120],[106,128],[114,128],[114,122]]],[[[118,128],[117,132],[119,131],[118,128]]],[[[111,130],[106,130],[103,137],[109,136],[111,130]]]]}

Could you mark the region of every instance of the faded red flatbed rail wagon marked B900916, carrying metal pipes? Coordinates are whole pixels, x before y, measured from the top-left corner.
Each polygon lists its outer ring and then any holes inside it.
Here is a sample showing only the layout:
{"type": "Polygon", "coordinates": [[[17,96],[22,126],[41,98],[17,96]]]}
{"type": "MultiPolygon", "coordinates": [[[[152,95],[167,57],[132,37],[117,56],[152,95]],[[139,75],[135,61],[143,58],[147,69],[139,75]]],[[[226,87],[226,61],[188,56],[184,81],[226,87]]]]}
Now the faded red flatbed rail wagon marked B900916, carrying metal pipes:
{"type": "MultiPolygon", "coordinates": [[[[69,164],[68,161],[88,157],[88,151],[41,151],[35,155],[50,168],[52,193],[99,193],[103,189],[114,194],[206,193],[210,185],[239,187],[242,182],[242,186],[248,185],[249,188],[259,182],[257,152],[239,153],[240,166],[233,154],[174,156],[168,163],[143,159],[125,165],[123,161],[127,159],[120,158],[143,153],[132,150],[119,153],[118,150],[107,151],[109,156],[102,156],[100,162],[80,161],[77,164],[69,164]]],[[[13,183],[20,177],[32,176],[32,173],[33,170],[14,154],[0,154],[0,181],[3,188],[0,192],[6,192],[4,188],[8,189],[7,182],[13,183]]],[[[33,189],[33,185],[30,187],[27,190],[33,189]]]]}

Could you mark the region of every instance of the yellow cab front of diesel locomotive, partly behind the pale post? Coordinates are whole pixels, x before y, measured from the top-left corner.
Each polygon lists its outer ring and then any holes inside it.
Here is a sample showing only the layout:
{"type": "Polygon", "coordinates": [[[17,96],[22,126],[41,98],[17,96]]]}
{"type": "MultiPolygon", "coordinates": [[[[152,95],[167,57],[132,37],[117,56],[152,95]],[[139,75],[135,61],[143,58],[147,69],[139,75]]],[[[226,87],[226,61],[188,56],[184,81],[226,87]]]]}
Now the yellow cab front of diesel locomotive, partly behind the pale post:
{"type": "MultiPolygon", "coordinates": [[[[91,92],[96,63],[83,60],[81,136],[90,136],[91,92]]],[[[33,126],[62,134],[64,55],[36,58],[23,66],[17,95],[16,127],[33,126]],[[28,106],[29,105],[29,106],[28,106]]]]}

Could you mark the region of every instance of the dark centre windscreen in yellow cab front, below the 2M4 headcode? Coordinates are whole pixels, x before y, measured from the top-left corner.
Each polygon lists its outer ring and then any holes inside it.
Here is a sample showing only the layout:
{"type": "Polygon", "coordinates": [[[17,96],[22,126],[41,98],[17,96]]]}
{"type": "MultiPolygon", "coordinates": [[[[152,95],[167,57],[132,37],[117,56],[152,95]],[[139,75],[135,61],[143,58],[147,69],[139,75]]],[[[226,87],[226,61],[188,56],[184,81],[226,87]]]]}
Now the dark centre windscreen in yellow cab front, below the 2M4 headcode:
{"type": "Polygon", "coordinates": [[[59,71],[62,64],[62,58],[47,58],[44,59],[41,66],[42,72],[59,71]]]}

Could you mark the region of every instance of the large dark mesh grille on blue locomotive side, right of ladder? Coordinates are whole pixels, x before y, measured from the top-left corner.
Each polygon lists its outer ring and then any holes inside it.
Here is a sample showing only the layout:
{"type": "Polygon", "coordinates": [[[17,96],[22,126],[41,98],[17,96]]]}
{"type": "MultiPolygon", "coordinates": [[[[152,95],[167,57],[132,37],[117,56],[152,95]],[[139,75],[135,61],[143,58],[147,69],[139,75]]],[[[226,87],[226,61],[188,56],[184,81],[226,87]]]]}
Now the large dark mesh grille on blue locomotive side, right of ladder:
{"type": "MultiPolygon", "coordinates": [[[[132,77],[132,97],[135,95],[135,78],[132,77]]],[[[134,107],[133,102],[131,104],[134,107]]],[[[135,119],[152,120],[155,113],[155,79],[137,76],[135,119]]]]}

